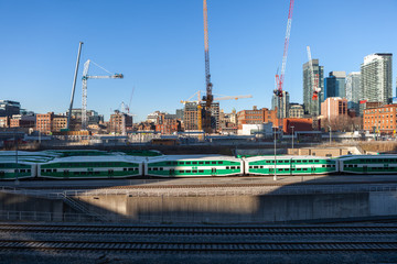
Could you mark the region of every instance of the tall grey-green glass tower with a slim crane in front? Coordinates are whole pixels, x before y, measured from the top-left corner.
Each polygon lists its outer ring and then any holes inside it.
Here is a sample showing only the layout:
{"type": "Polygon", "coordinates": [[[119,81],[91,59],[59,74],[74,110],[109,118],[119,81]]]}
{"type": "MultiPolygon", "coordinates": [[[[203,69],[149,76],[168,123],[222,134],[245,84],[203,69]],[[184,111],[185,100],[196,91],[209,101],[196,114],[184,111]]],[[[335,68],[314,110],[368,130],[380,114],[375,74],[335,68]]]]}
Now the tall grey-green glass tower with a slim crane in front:
{"type": "Polygon", "coordinates": [[[321,102],[324,101],[324,66],[319,65],[319,59],[312,59],[313,74],[318,77],[321,89],[318,100],[312,100],[313,84],[309,62],[303,64],[303,108],[309,116],[319,116],[321,102]]]}

